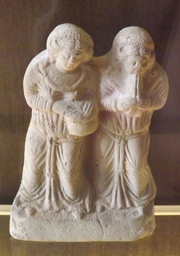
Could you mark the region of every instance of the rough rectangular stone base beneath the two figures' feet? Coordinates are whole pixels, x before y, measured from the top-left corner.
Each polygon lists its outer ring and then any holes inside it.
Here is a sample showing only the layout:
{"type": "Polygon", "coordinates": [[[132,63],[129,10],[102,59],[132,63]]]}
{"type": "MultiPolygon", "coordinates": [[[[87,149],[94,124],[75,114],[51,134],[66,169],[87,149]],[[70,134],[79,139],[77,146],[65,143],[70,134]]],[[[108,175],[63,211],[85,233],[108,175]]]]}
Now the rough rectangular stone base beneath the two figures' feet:
{"type": "Polygon", "coordinates": [[[154,208],[149,210],[147,206],[111,209],[76,218],[67,212],[28,213],[13,206],[10,234],[31,241],[133,241],[153,233],[154,208]]]}

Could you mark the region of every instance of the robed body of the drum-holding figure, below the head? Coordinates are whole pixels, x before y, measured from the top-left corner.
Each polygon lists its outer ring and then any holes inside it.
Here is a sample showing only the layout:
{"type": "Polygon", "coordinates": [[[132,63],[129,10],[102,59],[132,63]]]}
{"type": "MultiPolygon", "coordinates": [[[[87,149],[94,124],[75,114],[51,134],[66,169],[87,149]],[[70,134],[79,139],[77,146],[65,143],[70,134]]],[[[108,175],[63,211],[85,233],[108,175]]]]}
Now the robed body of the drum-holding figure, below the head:
{"type": "Polygon", "coordinates": [[[45,50],[29,64],[23,85],[32,117],[25,141],[22,182],[15,203],[38,211],[89,212],[94,190],[86,164],[86,135],[98,127],[92,69],[82,64],[72,74],[64,75],[45,50]],[[53,112],[54,102],[58,102],[61,113],[53,112]],[[90,111],[80,108],[87,102],[90,111]],[[69,114],[70,110],[75,111],[75,117],[69,114]],[[81,118],[85,122],[81,136],[72,135],[68,125],[78,120],[78,129],[81,118]]]}

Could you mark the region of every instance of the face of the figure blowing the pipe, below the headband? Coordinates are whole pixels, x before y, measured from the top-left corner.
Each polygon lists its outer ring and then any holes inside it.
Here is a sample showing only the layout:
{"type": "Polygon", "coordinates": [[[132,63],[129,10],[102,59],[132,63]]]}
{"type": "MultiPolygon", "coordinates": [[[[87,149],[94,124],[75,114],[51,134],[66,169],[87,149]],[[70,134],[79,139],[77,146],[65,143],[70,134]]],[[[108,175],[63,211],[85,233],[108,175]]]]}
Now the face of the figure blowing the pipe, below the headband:
{"type": "Polygon", "coordinates": [[[127,45],[117,49],[121,66],[130,74],[142,74],[155,64],[155,52],[144,46],[127,45]]]}

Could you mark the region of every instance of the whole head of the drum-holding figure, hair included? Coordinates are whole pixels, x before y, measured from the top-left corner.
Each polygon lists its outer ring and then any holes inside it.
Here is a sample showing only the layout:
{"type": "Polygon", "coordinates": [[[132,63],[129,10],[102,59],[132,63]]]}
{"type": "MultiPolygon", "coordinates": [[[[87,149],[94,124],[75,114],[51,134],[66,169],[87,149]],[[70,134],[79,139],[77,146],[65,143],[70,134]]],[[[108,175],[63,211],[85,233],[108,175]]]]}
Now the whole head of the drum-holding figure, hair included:
{"type": "Polygon", "coordinates": [[[61,24],[47,38],[47,51],[62,70],[74,70],[81,62],[92,58],[93,41],[78,26],[61,24]]]}

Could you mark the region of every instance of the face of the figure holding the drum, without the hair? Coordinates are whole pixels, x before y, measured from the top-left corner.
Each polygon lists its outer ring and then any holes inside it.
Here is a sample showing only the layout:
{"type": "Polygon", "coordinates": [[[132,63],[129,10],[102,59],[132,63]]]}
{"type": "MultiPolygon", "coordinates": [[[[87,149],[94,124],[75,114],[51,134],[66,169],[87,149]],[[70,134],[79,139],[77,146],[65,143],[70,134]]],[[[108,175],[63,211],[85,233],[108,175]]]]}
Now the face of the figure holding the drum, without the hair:
{"type": "Polygon", "coordinates": [[[59,51],[56,62],[62,70],[74,70],[81,62],[86,61],[86,51],[73,46],[67,46],[59,51]]]}

